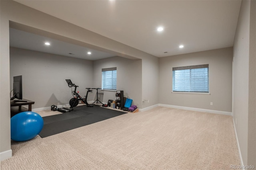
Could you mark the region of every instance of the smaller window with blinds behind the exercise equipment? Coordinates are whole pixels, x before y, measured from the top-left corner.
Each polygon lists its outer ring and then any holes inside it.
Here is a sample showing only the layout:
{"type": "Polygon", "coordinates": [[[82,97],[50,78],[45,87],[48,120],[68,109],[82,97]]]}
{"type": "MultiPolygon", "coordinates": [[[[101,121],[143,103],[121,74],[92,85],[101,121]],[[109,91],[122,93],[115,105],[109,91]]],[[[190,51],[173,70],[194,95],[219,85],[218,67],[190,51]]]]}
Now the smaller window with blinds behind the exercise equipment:
{"type": "Polygon", "coordinates": [[[116,67],[102,68],[102,89],[116,90],[116,67]]]}

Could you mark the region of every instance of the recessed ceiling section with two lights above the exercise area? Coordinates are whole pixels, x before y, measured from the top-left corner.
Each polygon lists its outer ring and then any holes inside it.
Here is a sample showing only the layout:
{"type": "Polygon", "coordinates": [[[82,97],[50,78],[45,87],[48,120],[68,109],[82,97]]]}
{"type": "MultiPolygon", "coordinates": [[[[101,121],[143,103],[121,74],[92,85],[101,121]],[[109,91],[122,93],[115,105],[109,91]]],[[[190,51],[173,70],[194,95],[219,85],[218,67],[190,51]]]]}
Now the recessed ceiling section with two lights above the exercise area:
{"type": "Polygon", "coordinates": [[[10,28],[10,46],[86,60],[99,60],[115,56],[13,28],[10,28]],[[49,42],[50,45],[45,45],[46,42],[49,42]],[[88,52],[91,54],[87,54],[88,52]]]}

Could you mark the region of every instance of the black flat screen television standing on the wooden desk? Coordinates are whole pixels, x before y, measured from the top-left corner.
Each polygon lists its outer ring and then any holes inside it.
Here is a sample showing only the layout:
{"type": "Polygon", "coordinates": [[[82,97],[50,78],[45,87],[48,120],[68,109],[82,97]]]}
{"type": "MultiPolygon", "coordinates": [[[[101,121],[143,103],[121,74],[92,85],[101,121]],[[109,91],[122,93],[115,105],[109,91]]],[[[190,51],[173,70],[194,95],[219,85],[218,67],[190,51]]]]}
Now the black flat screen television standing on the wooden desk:
{"type": "Polygon", "coordinates": [[[22,100],[22,76],[13,77],[13,96],[11,100],[14,102],[27,102],[22,100]]]}

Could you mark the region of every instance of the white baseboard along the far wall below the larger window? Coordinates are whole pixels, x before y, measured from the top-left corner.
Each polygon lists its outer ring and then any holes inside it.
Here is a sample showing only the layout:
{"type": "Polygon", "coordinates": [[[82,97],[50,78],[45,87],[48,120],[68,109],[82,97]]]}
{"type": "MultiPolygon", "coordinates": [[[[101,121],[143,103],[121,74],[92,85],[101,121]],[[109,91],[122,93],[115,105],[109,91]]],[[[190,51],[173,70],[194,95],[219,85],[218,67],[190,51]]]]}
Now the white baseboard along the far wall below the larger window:
{"type": "Polygon", "coordinates": [[[171,107],[171,108],[175,108],[175,109],[192,110],[192,111],[201,111],[201,112],[207,112],[207,113],[215,113],[215,114],[232,116],[232,112],[228,112],[228,111],[198,109],[198,108],[193,108],[193,107],[174,106],[174,105],[168,105],[168,104],[158,104],[158,106],[161,106],[161,107],[171,107]]]}

